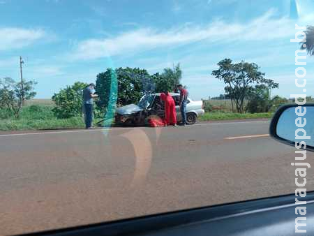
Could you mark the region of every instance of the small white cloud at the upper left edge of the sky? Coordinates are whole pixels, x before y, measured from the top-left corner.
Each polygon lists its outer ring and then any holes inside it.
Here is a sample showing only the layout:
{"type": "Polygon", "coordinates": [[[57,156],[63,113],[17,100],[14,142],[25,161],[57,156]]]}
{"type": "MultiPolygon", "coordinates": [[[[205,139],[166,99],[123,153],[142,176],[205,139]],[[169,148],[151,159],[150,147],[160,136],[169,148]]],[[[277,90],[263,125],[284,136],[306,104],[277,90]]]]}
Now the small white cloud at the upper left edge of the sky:
{"type": "Polygon", "coordinates": [[[0,51],[31,45],[44,36],[42,29],[0,28],[0,51]]]}

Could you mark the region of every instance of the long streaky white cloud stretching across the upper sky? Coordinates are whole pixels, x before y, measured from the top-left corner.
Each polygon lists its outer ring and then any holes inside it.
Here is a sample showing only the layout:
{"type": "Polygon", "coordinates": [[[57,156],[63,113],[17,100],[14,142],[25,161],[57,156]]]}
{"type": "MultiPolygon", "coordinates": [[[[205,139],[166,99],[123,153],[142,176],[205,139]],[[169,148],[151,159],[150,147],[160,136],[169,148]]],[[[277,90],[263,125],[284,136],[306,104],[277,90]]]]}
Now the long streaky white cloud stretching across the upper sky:
{"type": "Polygon", "coordinates": [[[78,43],[71,58],[98,59],[201,40],[220,44],[247,40],[276,40],[294,34],[294,22],[287,17],[274,18],[274,15],[274,10],[269,10],[248,24],[216,20],[205,26],[188,24],[164,31],[142,28],[103,39],[91,38],[78,43]]]}

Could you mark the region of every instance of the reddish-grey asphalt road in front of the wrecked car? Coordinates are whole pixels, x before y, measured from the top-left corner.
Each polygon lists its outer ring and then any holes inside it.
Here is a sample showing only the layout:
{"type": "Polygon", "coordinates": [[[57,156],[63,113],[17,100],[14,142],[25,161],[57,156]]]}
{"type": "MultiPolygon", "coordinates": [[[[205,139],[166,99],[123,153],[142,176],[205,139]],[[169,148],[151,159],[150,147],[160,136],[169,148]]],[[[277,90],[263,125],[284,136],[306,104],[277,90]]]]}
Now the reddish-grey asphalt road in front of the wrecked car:
{"type": "MultiPolygon", "coordinates": [[[[0,134],[0,234],[294,193],[269,121],[0,134]]],[[[314,166],[313,154],[307,161],[314,166]]],[[[308,191],[314,189],[307,172],[308,191]]]]}

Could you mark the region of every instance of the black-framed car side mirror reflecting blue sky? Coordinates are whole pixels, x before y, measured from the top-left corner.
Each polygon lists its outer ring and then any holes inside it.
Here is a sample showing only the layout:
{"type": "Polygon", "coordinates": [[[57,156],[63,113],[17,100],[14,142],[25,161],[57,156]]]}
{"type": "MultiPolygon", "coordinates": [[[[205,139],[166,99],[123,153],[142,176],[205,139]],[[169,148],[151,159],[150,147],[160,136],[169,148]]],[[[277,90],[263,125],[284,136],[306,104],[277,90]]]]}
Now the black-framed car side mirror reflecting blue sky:
{"type": "Polygon", "coordinates": [[[270,135],[294,147],[314,152],[314,104],[284,105],[271,120],[270,135]]]}

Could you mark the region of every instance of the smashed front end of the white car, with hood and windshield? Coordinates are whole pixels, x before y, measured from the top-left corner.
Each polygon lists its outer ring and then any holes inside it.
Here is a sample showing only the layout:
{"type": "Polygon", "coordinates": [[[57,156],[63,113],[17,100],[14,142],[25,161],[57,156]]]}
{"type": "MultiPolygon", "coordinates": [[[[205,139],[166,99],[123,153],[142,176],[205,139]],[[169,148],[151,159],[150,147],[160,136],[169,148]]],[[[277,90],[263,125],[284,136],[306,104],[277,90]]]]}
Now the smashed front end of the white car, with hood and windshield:
{"type": "Polygon", "coordinates": [[[124,105],[116,109],[116,124],[137,125],[144,124],[145,118],[148,115],[148,109],[154,101],[153,94],[142,96],[140,102],[136,104],[124,105]]]}

